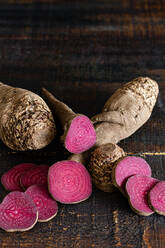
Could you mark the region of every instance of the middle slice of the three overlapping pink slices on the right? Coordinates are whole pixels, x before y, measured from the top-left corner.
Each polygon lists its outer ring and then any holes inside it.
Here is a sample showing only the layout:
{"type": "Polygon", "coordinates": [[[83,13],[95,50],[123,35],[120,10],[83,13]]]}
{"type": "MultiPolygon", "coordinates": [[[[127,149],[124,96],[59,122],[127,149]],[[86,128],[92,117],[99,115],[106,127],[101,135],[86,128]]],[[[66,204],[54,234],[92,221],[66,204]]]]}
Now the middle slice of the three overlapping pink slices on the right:
{"type": "Polygon", "coordinates": [[[128,178],[126,191],[132,209],[144,216],[151,215],[152,209],[148,204],[148,193],[158,182],[157,179],[147,176],[135,175],[128,178]]]}

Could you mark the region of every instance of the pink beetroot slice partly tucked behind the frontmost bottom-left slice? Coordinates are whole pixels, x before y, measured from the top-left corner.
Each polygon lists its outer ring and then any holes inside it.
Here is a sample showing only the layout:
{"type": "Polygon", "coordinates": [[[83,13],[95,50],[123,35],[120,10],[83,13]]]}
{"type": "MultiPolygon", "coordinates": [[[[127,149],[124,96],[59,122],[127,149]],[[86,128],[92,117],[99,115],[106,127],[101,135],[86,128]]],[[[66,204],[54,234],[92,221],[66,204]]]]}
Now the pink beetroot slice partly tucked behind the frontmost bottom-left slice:
{"type": "Polygon", "coordinates": [[[25,194],[32,198],[37,207],[38,222],[49,221],[57,215],[57,202],[51,198],[45,185],[32,185],[25,194]]]}

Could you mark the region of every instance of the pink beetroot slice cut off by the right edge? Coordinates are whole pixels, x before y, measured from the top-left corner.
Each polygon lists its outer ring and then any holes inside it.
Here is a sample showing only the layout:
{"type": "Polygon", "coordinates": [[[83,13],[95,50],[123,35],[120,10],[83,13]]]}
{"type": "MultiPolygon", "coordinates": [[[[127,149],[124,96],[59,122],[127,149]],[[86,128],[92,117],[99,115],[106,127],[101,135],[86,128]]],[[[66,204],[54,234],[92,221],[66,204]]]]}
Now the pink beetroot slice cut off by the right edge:
{"type": "Polygon", "coordinates": [[[165,181],[158,182],[150,190],[149,202],[155,212],[165,215],[165,181]]]}

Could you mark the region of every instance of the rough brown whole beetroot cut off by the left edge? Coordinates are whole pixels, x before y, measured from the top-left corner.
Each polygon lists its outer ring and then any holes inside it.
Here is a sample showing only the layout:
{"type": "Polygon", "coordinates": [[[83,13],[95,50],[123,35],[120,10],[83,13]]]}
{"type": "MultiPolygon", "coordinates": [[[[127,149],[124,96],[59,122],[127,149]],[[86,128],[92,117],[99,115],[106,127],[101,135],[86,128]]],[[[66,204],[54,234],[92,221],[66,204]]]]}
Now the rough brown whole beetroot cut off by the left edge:
{"type": "Polygon", "coordinates": [[[56,134],[50,109],[31,91],[0,83],[0,139],[11,149],[47,146],[56,134]]]}

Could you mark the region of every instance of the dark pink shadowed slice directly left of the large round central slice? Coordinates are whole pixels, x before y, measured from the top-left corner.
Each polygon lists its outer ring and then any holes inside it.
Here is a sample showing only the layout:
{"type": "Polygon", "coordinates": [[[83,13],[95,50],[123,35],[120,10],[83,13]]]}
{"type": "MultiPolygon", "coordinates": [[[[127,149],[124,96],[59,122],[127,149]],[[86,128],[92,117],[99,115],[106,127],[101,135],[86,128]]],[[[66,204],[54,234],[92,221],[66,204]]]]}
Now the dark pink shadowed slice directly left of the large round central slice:
{"type": "Polygon", "coordinates": [[[20,177],[20,185],[27,189],[33,184],[47,184],[48,165],[38,165],[26,171],[20,177]]]}

